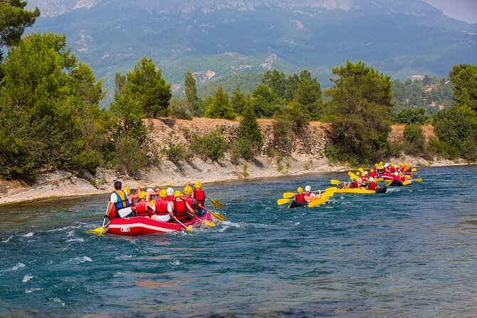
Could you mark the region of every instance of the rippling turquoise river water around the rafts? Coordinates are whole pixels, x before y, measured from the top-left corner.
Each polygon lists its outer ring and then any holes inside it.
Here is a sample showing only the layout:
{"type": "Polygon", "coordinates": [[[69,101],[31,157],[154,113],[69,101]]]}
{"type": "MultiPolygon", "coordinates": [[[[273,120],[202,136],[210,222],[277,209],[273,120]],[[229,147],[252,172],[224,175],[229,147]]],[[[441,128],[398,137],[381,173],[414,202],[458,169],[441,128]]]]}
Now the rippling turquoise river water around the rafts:
{"type": "Polygon", "coordinates": [[[142,237],[85,232],[108,195],[0,207],[0,317],[476,317],[477,166],[419,176],[296,209],[346,173],[206,185],[229,221],[142,237]]]}

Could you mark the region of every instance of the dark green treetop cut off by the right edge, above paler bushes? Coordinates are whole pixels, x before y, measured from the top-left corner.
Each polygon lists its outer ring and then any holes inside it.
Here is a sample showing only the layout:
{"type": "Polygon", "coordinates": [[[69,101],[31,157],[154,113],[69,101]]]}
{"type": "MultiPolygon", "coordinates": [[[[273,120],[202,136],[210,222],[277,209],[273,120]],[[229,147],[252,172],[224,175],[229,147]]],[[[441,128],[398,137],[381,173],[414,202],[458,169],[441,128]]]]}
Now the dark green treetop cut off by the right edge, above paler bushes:
{"type": "Polygon", "coordinates": [[[454,98],[458,106],[467,105],[477,112],[477,66],[454,65],[449,75],[454,83],[454,98]]]}

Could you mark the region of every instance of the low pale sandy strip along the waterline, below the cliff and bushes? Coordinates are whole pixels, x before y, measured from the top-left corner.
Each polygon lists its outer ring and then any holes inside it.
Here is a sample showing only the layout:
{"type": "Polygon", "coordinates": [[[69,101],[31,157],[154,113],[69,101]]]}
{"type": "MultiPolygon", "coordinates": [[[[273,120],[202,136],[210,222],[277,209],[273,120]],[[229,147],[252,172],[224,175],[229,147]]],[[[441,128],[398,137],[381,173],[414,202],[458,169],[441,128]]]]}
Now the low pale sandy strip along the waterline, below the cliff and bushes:
{"type": "MultiPolygon", "coordinates": [[[[421,167],[466,164],[464,160],[439,160],[429,163],[422,158],[409,156],[404,156],[396,161],[404,161],[413,166],[421,167]]],[[[262,157],[253,160],[253,162],[241,161],[238,164],[232,164],[226,160],[212,162],[195,159],[191,163],[174,165],[169,161],[164,161],[160,167],[148,170],[141,180],[132,180],[124,176],[102,172],[98,175],[98,179],[96,179],[101,180],[101,184],[97,185],[98,188],[95,188],[88,180],[78,178],[65,171],[58,171],[43,175],[36,183],[31,185],[18,181],[0,180],[0,204],[41,200],[51,197],[106,194],[112,192],[112,183],[115,180],[121,180],[123,185],[127,185],[130,188],[135,188],[137,185],[140,185],[142,188],[155,188],[166,185],[182,188],[187,181],[195,180],[201,180],[202,183],[216,183],[347,170],[349,170],[349,167],[345,165],[328,165],[326,158],[307,161],[285,158],[277,162],[276,159],[271,160],[262,157]],[[244,165],[246,165],[247,176],[244,175],[244,165]]]]}

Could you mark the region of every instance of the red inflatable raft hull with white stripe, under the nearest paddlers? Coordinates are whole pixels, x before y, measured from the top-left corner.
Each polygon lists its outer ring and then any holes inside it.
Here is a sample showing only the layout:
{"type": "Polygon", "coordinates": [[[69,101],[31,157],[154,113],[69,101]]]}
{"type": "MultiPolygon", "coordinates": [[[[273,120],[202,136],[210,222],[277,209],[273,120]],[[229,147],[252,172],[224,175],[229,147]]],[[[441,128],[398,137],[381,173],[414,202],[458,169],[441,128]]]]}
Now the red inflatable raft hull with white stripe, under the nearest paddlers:
{"type": "MultiPolygon", "coordinates": [[[[211,222],[212,217],[210,212],[206,212],[204,216],[192,217],[187,222],[182,222],[185,226],[199,226],[202,224],[202,220],[211,222]]],[[[167,233],[180,230],[186,230],[184,226],[177,222],[162,222],[151,220],[149,217],[129,217],[122,219],[116,217],[105,226],[103,232],[117,235],[145,235],[154,233],[167,233]]]]}

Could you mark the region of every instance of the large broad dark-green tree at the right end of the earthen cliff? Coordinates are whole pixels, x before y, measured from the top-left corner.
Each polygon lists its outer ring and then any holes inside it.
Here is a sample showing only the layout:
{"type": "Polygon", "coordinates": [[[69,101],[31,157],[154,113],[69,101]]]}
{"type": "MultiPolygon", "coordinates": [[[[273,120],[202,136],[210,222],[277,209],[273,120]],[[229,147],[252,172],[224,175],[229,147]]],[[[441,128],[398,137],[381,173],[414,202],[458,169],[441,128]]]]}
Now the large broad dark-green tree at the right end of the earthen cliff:
{"type": "Polygon", "coordinates": [[[332,138],[342,159],[365,162],[387,155],[391,131],[392,89],[389,76],[359,61],[332,68],[336,80],[326,93],[332,138]]]}

